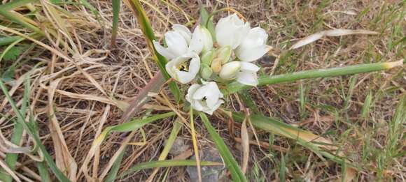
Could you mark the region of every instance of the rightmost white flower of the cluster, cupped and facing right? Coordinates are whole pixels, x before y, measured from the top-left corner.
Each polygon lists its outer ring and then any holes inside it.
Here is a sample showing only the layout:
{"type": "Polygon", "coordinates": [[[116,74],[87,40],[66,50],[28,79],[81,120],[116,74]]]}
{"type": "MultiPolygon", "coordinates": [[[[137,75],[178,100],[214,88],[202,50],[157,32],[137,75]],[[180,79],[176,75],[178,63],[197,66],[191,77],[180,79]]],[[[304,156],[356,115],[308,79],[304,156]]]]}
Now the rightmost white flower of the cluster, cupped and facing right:
{"type": "Polygon", "coordinates": [[[248,32],[241,44],[235,50],[235,55],[241,61],[255,61],[270,50],[266,45],[268,34],[264,29],[255,27],[248,32]]]}

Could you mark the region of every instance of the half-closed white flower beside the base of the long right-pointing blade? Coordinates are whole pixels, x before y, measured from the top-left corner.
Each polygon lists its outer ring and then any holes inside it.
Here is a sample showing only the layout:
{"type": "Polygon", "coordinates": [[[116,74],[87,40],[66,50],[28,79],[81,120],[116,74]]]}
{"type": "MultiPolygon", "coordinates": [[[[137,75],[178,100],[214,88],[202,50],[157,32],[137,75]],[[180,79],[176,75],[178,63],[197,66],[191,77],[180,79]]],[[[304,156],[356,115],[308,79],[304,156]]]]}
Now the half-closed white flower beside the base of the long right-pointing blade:
{"type": "Polygon", "coordinates": [[[253,63],[231,61],[223,65],[219,76],[225,80],[237,79],[237,82],[241,84],[257,86],[258,70],[260,70],[260,68],[253,63]]]}

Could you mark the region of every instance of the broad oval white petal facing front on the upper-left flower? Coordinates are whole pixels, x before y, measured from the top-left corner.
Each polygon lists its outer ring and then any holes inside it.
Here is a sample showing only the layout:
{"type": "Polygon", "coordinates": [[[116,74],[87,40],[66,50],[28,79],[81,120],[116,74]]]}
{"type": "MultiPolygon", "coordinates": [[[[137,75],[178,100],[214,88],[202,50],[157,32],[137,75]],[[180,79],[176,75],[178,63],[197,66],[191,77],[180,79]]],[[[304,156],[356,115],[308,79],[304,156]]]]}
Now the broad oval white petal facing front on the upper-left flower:
{"type": "Polygon", "coordinates": [[[168,45],[168,49],[175,56],[181,56],[188,50],[188,43],[186,43],[185,38],[181,36],[181,33],[176,31],[168,31],[165,33],[165,42],[168,45]]]}

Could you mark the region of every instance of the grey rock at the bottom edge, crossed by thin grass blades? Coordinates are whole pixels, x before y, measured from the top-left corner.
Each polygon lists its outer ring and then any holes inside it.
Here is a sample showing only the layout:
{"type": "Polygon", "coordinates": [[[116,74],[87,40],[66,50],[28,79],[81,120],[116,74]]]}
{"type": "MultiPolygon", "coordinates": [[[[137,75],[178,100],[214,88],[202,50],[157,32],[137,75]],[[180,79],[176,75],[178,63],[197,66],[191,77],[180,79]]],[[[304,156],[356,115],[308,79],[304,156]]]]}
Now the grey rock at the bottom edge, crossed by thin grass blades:
{"type": "MultiPolygon", "coordinates": [[[[218,153],[217,149],[214,148],[205,148],[203,151],[199,151],[200,160],[201,161],[211,161],[211,162],[223,162],[221,160],[221,156],[218,153]]],[[[191,160],[195,160],[195,156],[190,158],[191,160]]],[[[224,181],[223,178],[223,171],[224,167],[221,165],[216,166],[202,166],[202,182],[219,182],[224,181]]],[[[197,175],[197,167],[195,166],[188,166],[186,167],[186,171],[189,174],[190,181],[199,181],[199,177],[197,175]]]]}

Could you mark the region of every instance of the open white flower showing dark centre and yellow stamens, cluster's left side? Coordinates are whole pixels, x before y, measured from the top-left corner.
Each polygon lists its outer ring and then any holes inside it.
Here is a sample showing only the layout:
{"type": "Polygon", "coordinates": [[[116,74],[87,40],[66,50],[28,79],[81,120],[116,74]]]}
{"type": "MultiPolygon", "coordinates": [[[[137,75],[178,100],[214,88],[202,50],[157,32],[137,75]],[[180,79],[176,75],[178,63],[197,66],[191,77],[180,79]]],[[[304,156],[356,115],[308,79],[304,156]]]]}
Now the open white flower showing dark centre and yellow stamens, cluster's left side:
{"type": "Polygon", "coordinates": [[[165,68],[171,77],[182,84],[187,84],[199,73],[200,58],[195,52],[188,52],[169,61],[165,68]]]}

